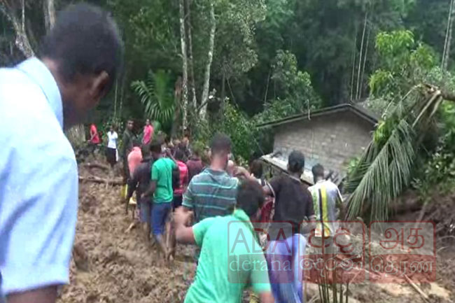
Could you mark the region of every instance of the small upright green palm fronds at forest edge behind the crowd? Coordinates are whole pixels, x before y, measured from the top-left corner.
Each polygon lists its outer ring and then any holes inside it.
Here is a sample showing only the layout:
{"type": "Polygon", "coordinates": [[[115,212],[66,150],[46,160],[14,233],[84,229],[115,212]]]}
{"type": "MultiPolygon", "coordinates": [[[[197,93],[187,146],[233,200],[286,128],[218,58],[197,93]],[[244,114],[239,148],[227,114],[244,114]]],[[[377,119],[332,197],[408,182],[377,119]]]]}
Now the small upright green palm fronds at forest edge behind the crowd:
{"type": "Polygon", "coordinates": [[[172,91],[171,76],[167,71],[159,69],[156,73],[149,71],[146,80],[137,80],[131,87],[146,106],[146,117],[158,120],[163,124],[172,121],[176,102],[172,91]]]}

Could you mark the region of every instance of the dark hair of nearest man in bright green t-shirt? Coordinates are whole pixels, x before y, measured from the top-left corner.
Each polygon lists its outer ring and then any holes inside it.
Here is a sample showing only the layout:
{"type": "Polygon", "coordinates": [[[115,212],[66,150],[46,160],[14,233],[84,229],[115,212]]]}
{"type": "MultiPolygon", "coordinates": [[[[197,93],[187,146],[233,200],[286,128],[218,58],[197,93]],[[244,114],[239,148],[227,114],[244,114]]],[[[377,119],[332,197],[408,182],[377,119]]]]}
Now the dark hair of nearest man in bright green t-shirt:
{"type": "Polygon", "coordinates": [[[236,207],[251,217],[262,207],[265,197],[258,182],[247,180],[239,185],[236,200],[236,207]]]}

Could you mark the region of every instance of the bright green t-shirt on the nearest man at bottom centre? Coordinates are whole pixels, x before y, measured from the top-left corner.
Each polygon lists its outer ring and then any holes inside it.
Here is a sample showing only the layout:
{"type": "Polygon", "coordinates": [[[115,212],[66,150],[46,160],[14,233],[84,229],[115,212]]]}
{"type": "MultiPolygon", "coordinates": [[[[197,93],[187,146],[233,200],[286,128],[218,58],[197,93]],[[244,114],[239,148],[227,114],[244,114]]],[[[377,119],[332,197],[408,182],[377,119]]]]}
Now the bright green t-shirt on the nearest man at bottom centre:
{"type": "Polygon", "coordinates": [[[267,262],[244,211],[204,219],[193,233],[202,249],[185,303],[239,303],[248,285],[270,291],[267,262]]]}

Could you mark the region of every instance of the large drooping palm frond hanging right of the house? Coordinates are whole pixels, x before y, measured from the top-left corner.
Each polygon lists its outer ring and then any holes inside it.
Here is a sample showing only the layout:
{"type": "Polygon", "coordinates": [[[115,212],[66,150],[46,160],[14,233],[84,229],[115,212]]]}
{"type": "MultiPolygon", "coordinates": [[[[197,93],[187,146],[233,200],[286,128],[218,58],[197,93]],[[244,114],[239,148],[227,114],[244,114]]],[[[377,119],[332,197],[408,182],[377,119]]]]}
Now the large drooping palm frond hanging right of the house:
{"type": "Polygon", "coordinates": [[[419,85],[379,123],[346,184],[346,190],[352,192],[349,218],[367,210],[371,220],[386,220],[389,204],[412,180],[423,136],[441,101],[440,90],[419,85]]]}

